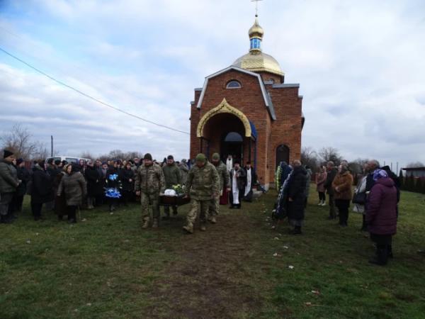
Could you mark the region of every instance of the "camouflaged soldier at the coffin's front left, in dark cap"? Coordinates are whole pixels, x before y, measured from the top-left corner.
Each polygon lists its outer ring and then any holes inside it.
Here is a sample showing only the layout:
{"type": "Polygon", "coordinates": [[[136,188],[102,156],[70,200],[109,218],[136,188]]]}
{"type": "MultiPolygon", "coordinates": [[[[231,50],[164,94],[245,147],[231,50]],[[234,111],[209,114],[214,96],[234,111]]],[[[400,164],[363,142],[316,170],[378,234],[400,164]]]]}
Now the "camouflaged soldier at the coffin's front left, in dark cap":
{"type": "Polygon", "coordinates": [[[143,164],[137,169],[135,177],[136,195],[142,204],[142,228],[149,227],[149,206],[152,207],[152,228],[159,225],[159,194],[165,191],[162,168],[152,162],[152,155],[145,154],[143,164]]]}

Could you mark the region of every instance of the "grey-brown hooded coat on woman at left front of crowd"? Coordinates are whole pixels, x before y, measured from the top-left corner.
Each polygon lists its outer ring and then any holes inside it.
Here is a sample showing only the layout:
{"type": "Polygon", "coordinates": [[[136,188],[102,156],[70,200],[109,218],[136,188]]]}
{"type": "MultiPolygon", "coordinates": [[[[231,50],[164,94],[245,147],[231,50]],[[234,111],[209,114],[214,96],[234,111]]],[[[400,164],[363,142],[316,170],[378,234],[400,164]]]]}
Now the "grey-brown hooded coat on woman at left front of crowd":
{"type": "Polygon", "coordinates": [[[62,192],[67,198],[67,206],[81,205],[83,198],[87,195],[87,184],[83,174],[81,172],[65,174],[57,189],[57,196],[61,196],[62,192]]]}

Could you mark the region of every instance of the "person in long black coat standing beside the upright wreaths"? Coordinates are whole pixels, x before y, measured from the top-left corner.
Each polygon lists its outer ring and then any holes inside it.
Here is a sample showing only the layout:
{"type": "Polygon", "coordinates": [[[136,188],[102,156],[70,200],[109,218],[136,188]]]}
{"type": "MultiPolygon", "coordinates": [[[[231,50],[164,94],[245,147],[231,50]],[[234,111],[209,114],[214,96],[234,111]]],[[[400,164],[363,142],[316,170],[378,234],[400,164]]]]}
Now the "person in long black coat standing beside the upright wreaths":
{"type": "Polygon", "coordinates": [[[293,234],[301,234],[304,220],[305,196],[306,196],[307,171],[300,161],[293,162],[293,172],[288,180],[288,220],[294,226],[293,234]]]}

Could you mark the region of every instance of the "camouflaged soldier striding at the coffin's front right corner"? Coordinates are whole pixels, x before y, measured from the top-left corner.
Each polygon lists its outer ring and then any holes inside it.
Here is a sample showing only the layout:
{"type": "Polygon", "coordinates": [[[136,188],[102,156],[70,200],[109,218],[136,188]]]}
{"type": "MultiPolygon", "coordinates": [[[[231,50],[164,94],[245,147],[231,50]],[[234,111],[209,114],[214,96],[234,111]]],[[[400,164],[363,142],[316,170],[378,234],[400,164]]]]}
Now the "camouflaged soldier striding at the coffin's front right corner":
{"type": "Polygon", "coordinates": [[[203,154],[196,156],[194,165],[188,174],[186,181],[186,196],[191,196],[191,211],[186,216],[186,225],[183,230],[193,233],[193,223],[196,214],[200,211],[200,230],[205,231],[208,218],[208,206],[212,198],[220,195],[220,178],[214,165],[207,161],[203,154]]]}

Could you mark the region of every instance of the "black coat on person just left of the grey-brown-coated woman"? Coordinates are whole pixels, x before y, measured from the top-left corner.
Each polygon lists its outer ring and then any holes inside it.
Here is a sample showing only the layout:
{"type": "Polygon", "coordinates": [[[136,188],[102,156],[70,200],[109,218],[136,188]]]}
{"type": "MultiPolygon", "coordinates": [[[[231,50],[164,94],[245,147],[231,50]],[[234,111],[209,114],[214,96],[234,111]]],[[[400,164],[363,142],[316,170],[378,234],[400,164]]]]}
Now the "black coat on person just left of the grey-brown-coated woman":
{"type": "Polygon", "coordinates": [[[40,166],[35,166],[33,168],[31,203],[47,203],[54,199],[52,177],[40,166]]]}

